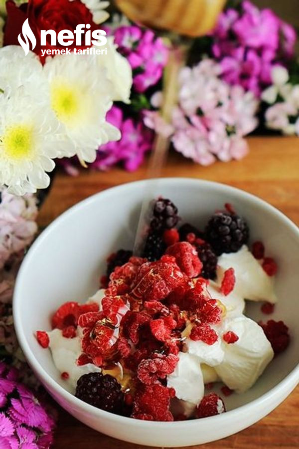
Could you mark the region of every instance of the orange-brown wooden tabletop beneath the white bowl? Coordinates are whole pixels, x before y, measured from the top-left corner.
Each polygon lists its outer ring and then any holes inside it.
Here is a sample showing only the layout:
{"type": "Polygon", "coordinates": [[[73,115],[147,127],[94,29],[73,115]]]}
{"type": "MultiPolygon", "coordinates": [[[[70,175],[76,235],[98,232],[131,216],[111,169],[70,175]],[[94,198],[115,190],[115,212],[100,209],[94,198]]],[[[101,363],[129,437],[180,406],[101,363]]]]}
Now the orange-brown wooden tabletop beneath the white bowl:
{"type": "MultiPolygon", "coordinates": [[[[251,192],[280,209],[299,225],[299,139],[252,137],[250,154],[242,161],[216,163],[200,167],[178,154],[171,154],[162,176],[207,179],[251,192]]],[[[146,177],[147,166],[135,173],[122,169],[110,172],[83,171],[71,178],[58,173],[39,216],[40,225],[48,225],[63,211],[84,198],[146,177]]],[[[74,242],[75,243],[75,242],[74,242]]],[[[299,448],[299,387],[274,412],[236,435],[200,448],[252,449],[299,448]]],[[[124,443],[99,434],[60,410],[56,430],[56,449],[138,449],[143,446],[124,443]]]]}

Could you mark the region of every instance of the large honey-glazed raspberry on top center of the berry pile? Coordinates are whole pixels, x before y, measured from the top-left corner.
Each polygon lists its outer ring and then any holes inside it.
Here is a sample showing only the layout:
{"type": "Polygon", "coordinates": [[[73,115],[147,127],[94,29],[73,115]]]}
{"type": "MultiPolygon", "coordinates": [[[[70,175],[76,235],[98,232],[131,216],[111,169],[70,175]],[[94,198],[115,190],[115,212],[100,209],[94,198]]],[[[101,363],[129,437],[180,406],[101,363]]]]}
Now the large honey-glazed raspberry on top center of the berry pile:
{"type": "Polygon", "coordinates": [[[141,267],[138,283],[132,291],[132,295],[137,299],[160,301],[185,278],[174,258],[169,256],[162,256],[160,260],[144,265],[145,270],[141,267]]]}

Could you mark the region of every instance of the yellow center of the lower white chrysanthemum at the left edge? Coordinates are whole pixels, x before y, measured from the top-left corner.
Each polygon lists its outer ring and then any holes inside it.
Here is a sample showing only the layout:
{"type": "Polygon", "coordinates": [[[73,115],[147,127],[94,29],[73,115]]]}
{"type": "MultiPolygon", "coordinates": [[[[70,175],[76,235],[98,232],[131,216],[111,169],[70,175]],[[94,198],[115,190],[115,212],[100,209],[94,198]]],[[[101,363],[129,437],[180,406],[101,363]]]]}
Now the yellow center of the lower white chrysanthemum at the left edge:
{"type": "Polygon", "coordinates": [[[8,158],[14,161],[31,158],[34,151],[32,126],[10,126],[0,140],[8,158]]]}

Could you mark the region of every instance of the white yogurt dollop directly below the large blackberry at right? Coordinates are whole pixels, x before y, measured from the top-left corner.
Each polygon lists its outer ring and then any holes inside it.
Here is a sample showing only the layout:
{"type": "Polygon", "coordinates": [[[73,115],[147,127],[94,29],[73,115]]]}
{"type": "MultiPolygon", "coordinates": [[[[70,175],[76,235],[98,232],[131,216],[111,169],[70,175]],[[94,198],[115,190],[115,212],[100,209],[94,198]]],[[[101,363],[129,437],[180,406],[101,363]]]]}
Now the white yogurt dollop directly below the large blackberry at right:
{"type": "Polygon", "coordinates": [[[236,284],[234,295],[252,301],[277,302],[274,279],[263,270],[246,245],[237,252],[223,253],[218,259],[217,283],[221,285],[224,271],[234,268],[236,284]]]}

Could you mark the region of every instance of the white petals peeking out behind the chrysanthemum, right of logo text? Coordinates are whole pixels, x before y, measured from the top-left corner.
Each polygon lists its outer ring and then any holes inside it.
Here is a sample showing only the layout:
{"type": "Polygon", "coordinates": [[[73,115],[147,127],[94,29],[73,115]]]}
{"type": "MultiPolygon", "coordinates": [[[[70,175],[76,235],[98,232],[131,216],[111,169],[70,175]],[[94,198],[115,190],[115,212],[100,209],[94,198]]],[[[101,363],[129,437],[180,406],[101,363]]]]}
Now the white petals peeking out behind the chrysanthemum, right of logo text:
{"type": "Polygon", "coordinates": [[[100,67],[107,70],[113,84],[113,100],[130,103],[132,68],[128,60],[117,51],[114,37],[107,37],[107,54],[94,55],[100,67]]]}

